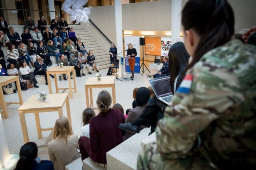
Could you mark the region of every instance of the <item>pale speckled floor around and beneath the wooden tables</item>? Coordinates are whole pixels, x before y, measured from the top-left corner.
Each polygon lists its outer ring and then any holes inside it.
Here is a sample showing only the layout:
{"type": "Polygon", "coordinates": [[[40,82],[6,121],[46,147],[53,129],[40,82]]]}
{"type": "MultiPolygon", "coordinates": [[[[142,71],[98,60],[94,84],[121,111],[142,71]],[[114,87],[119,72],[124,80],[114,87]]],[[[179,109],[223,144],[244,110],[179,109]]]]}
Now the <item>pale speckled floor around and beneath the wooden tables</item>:
{"type": "MultiPolygon", "coordinates": [[[[108,69],[102,69],[100,70],[100,74],[102,76],[105,76],[108,69]]],[[[156,73],[156,70],[150,70],[151,74],[156,73]]],[[[113,75],[114,76],[114,75],[113,75]]],[[[81,134],[81,127],[82,127],[82,111],[86,109],[86,97],[85,97],[85,89],[84,84],[88,77],[96,77],[96,73],[93,73],[92,75],[86,74],[86,76],[83,77],[76,77],[76,87],[77,87],[77,93],[73,93],[73,99],[69,99],[70,101],[70,111],[71,111],[71,118],[72,118],[72,129],[74,134],[77,134],[78,137],[80,137],[81,134]]],[[[130,77],[130,74],[126,74],[125,77],[130,77]]],[[[116,103],[120,103],[123,108],[124,112],[126,109],[132,108],[132,91],[135,87],[148,87],[150,85],[149,80],[150,78],[147,77],[146,73],[141,76],[141,74],[135,74],[133,81],[119,81],[115,80],[115,86],[116,86],[116,103]]],[[[73,83],[73,81],[72,81],[73,83]]],[[[53,93],[55,93],[55,85],[54,82],[52,84],[52,90],[53,93]]],[[[25,102],[31,95],[36,95],[37,91],[46,91],[48,92],[48,86],[47,85],[39,85],[40,88],[31,88],[27,91],[22,91],[22,97],[23,101],[25,102]]],[[[61,87],[67,87],[68,81],[58,81],[58,86],[61,87]]],[[[93,102],[94,106],[96,104],[96,98],[98,96],[98,93],[103,89],[93,89],[93,102]]],[[[105,90],[109,91],[111,93],[111,88],[105,88],[105,90]]],[[[66,90],[65,93],[68,93],[68,90],[66,90]]],[[[14,93],[11,95],[4,95],[6,102],[7,101],[18,101],[18,93],[14,93]]],[[[18,108],[20,105],[8,105],[7,111],[9,118],[3,119],[2,121],[4,125],[4,131],[6,134],[7,144],[10,153],[19,153],[20,147],[24,144],[23,136],[22,136],[22,130],[20,126],[20,118],[18,115],[18,108]]],[[[63,107],[63,114],[66,116],[66,105],[63,107]]],[[[96,113],[97,114],[97,113],[96,113]]],[[[48,127],[54,127],[54,123],[56,119],[58,119],[58,113],[57,112],[50,112],[50,113],[39,113],[40,116],[40,122],[42,128],[48,128],[48,127]]],[[[50,131],[43,131],[42,132],[42,138],[38,139],[37,130],[36,130],[36,122],[34,114],[25,114],[26,117],[26,123],[28,128],[28,136],[29,140],[32,142],[36,142],[38,145],[45,144],[48,136],[50,135],[50,131]]],[[[40,148],[38,150],[38,156],[44,160],[48,160],[48,149],[47,148],[40,148]]]]}

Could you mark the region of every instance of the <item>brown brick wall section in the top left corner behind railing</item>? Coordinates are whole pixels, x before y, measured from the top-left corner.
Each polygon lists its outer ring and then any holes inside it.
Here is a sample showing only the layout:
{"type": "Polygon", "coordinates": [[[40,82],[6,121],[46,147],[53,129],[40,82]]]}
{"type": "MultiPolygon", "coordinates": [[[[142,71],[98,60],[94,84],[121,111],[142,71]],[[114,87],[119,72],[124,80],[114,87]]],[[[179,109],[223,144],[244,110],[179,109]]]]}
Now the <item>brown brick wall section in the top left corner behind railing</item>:
{"type": "MultiPolygon", "coordinates": [[[[3,8],[16,9],[15,0],[2,1],[3,8]]],[[[11,10],[4,10],[4,19],[8,25],[18,25],[17,13],[12,13],[11,10]]]]}

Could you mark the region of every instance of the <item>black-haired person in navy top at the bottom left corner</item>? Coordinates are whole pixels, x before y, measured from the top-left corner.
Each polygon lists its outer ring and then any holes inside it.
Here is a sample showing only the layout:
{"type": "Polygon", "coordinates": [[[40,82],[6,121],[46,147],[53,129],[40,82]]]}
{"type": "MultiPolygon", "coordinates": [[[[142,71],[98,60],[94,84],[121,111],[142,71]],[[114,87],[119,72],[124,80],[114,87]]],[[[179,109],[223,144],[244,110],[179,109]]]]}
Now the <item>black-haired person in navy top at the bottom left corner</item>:
{"type": "Polygon", "coordinates": [[[36,143],[28,142],[20,148],[20,159],[14,170],[54,170],[54,166],[50,160],[40,160],[36,143]]]}

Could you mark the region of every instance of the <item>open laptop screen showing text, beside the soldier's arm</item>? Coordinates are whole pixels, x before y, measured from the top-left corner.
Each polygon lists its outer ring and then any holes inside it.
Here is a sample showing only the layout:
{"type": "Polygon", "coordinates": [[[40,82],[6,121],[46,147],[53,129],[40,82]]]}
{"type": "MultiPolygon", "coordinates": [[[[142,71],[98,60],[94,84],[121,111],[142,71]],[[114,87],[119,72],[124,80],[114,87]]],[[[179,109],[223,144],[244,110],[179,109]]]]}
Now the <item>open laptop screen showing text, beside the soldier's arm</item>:
{"type": "Polygon", "coordinates": [[[158,98],[172,94],[170,76],[150,79],[149,82],[158,98]]]}

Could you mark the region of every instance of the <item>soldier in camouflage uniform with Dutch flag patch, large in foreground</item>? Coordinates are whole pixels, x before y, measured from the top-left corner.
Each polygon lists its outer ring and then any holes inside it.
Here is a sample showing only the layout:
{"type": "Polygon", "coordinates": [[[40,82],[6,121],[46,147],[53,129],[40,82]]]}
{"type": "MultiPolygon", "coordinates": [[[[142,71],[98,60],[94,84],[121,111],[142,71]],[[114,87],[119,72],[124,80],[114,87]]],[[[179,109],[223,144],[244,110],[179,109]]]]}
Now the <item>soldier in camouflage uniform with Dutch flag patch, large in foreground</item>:
{"type": "Polygon", "coordinates": [[[193,59],[137,169],[254,169],[256,48],[230,41],[226,0],[189,0],[182,25],[193,59]]]}

